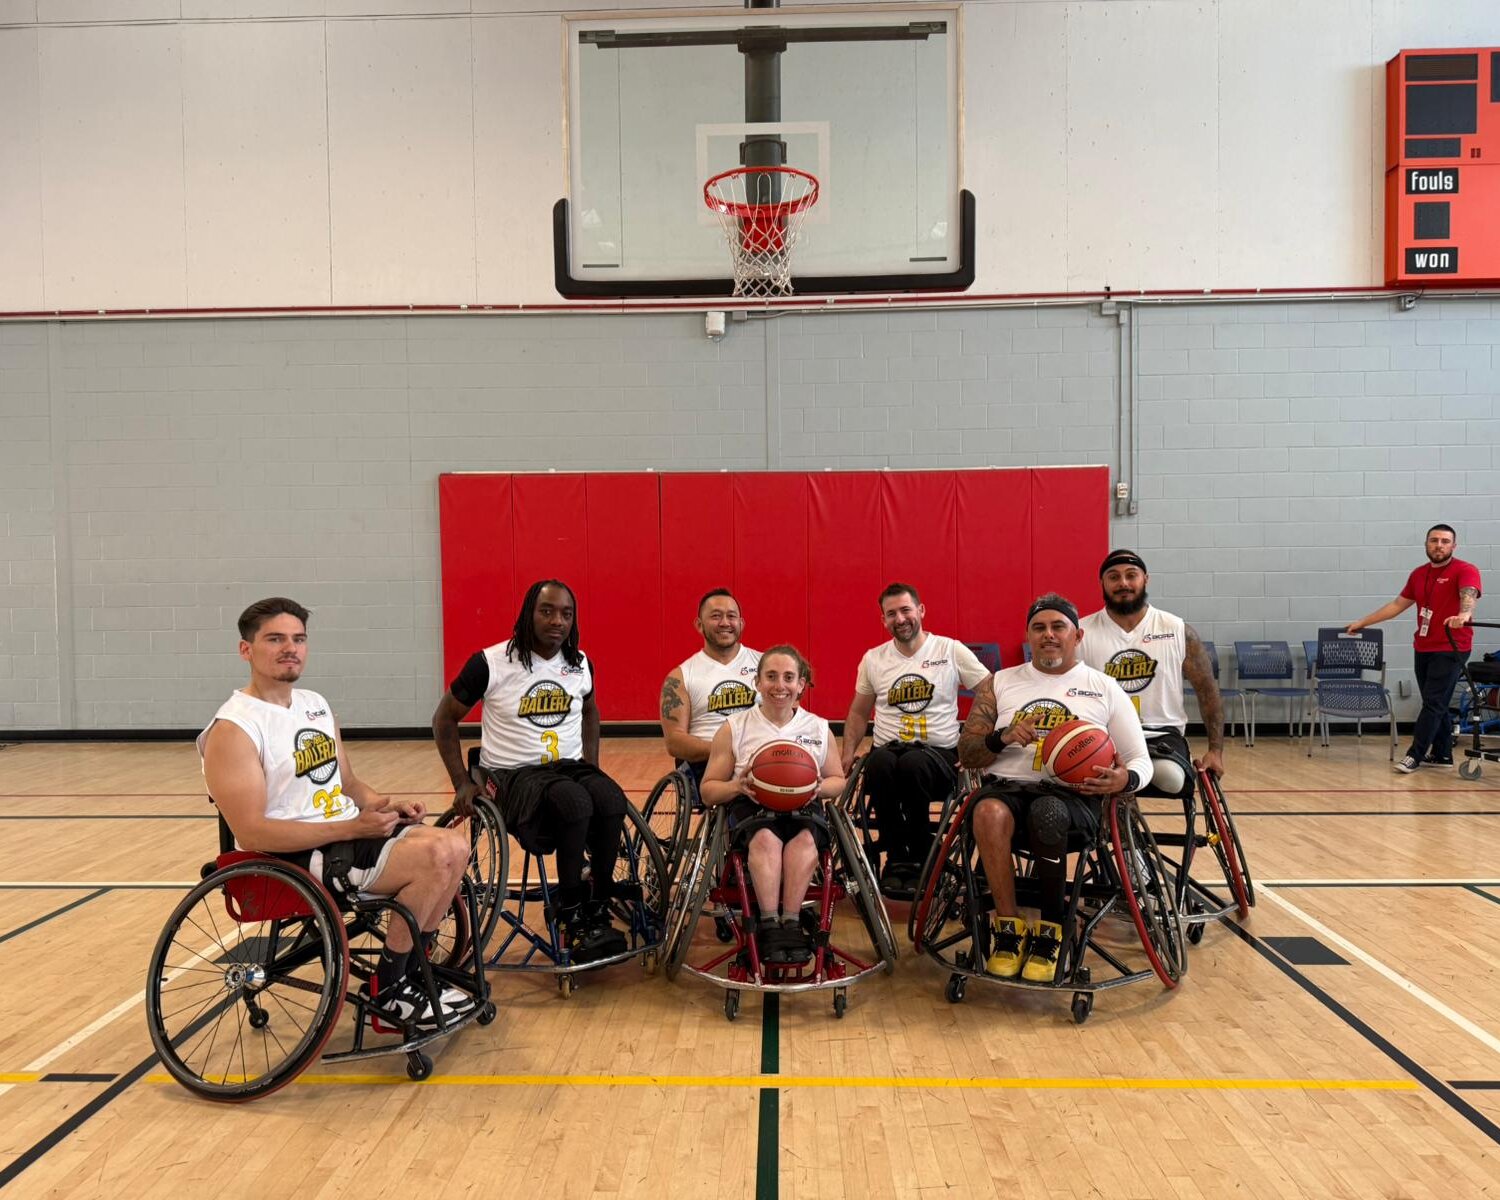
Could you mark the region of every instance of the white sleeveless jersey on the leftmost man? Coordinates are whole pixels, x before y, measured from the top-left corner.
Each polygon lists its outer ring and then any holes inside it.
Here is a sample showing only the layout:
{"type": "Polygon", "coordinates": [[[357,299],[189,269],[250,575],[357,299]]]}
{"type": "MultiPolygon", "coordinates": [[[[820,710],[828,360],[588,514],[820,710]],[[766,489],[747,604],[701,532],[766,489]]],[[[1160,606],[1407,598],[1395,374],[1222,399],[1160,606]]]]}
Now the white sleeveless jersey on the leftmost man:
{"type": "Polygon", "coordinates": [[[255,742],[266,772],[266,816],[272,820],[352,820],[360,814],[344,795],[338,726],[328,702],[316,692],[292,688],[288,708],[232,693],[198,735],[200,758],[216,722],[237,724],[255,742]]]}

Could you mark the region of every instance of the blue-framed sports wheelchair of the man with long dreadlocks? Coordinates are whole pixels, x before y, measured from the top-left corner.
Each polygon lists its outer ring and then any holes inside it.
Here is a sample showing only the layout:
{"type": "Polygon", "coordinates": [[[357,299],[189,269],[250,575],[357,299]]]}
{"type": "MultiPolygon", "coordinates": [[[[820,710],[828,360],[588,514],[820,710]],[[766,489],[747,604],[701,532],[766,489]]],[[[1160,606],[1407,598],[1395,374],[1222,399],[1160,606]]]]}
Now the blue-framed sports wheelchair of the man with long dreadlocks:
{"type": "MultiPolygon", "coordinates": [[[[500,792],[494,776],[480,765],[478,747],[468,752],[468,768],[480,786],[470,819],[468,879],[477,897],[478,945],[489,954],[490,970],[524,970],[556,978],[558,992],[568,998],[584,972],[640,958],[652,974],[662,957],[666,930],[669,876],[662,848],[645,818],[627,802],[620,855],[609,896],[610,916],[624,927],[626,950],[586,963],[573,962],[564,944],[554,903],[556,885],[548,874],[546,855],[520,843],[520,878],[510,876],[510,840],[500,813],[500,792]],[[490,946],[495,938],[500,944],[490,946]]],[[[459,818],[444,813],[440,825],[459,818]]]]}

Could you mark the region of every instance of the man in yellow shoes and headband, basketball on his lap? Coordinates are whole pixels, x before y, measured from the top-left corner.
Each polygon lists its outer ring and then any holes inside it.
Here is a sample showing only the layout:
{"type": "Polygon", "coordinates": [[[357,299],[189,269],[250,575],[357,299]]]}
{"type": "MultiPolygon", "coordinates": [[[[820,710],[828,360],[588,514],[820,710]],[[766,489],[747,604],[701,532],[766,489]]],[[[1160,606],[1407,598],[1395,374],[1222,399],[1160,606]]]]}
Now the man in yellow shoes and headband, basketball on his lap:
{"type": "Polygon", "coordinates": [[[1056,592],[1032,602],[1026,642],[1032,660],[998,670],[974,692],[958,738],[958,760],[984,771],[972,808],[974,838],[994,900],[986,970],[1000,978],[1050,984],[1058,976],[1066,914],[1068,834],[1092,838],[1100,801],[1138,790],[1150,778],[1150,756],[1136,706],[1108,675],[1078,660],[1078,610],[1056,592]],[[1048,780],[1041,747],[1048,730],[1082,718],[1102,724],[1114,742],[1114,765],[1072,788],[1048,780]],[[1029,926],[1016,904],[1011,844],[1030,846],[1041,920],[1029,926]]]}

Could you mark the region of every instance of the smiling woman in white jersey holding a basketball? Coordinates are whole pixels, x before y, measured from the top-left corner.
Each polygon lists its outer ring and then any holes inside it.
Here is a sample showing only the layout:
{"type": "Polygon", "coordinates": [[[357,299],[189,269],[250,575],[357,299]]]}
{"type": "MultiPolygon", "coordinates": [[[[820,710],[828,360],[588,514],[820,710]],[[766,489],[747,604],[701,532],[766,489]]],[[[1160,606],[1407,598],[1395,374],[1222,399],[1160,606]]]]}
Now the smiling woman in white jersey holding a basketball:
{"type": "MultiPolygon", "coordinates": [[[[760,909],[758,944],[768,963],[796,963],[813,952],[813,942],[798,922],[802,897],[813,879],[819,854],[828,846],[824,800],[843,792],[844,778],[832,730],[822,717],[800,706],[813,670],[796,646],[771,646],[756,672],[754,708],[726,720],[708,752],[700,794],[710,806],[729,806],[730,838],[746,849],[756,904],[760,909]],[[796,782],[801,747],[812,771],[796,782]],[[752,764],[780,759],[778,783],[758,783],[752,764]]],[[[766,771],[766,774],[771,774],[766,771]]]]}

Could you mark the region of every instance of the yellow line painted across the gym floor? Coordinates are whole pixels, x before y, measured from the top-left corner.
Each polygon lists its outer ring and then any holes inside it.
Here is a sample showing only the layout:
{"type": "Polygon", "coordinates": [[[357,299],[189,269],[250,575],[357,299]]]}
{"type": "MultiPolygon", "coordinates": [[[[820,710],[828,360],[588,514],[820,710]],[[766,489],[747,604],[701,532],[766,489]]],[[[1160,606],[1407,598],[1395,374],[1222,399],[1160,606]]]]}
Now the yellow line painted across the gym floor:
{"type": "MultiPolygon", "coordinates": [[[[171,1076],[147,1076],[171,1083],[171,1076]]],[[[302,1076],[312,1084],[411,1083],[406,1076],[302,1076]]],[[[902,1088],[976,1090],[1167,1090],[1167,1092],[1414,1092],[1402,1078],[1024,1078],[950,1076],[432,1076],[448,1088],[902,1088]]]]}

